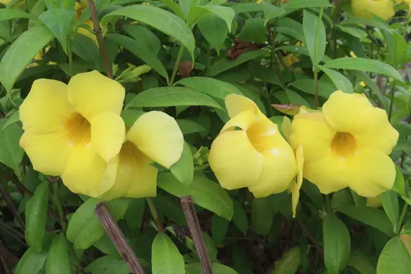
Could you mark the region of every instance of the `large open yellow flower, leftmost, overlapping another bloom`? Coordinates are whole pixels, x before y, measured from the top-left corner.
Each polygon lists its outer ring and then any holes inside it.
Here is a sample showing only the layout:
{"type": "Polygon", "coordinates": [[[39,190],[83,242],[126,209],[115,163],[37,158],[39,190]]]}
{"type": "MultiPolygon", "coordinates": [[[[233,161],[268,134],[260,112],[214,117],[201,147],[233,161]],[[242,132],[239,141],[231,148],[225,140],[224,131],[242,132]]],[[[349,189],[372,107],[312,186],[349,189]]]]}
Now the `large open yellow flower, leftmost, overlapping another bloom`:
{"type": "Polygon", "coordinates": [[[61,175],[75,193],[97,197],[109,190],[125,139],[124,97],[123,86],[98,71],[79,73],[67,85],[37,79],[20,106],[20,145],[34,169],[61,175]]]}

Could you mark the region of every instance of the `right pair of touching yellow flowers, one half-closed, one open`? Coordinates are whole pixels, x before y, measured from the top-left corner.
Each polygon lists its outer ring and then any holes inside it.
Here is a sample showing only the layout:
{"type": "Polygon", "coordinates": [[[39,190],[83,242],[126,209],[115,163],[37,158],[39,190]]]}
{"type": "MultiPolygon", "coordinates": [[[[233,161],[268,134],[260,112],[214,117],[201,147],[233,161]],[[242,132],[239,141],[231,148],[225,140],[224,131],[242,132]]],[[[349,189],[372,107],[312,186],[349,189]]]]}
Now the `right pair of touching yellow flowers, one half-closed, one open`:
{"type": "Polygon", "coordinates": [[[322,110],[301,108],[292,123],[284,117],[288,142],[251,100],[229,95],[225,104],[231,120],[209,156],[223,188],[247,187],[257,198],[288,189],[295,214],[303,177],[324,194],[349,187],[377,197],[393,186],[395,164],[388,155],[399,134],[364,94],[337,90],[322,110]]]}

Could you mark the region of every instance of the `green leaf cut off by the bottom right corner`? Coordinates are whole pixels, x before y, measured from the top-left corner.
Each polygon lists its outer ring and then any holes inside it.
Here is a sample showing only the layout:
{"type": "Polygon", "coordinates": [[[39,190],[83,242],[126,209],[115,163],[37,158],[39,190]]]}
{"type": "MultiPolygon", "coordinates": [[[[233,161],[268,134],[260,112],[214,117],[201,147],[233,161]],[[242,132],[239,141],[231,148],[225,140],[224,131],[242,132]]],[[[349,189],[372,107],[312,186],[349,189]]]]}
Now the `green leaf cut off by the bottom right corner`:
{"type": "Polygon", "coordinates": [[[411,269],[411,257],[408,254],[406,246],[401,241],[399,236],[395,236],[389,240],[381,255],[379,255],[377,263],[378,274],[407,274],[411,269]]]}

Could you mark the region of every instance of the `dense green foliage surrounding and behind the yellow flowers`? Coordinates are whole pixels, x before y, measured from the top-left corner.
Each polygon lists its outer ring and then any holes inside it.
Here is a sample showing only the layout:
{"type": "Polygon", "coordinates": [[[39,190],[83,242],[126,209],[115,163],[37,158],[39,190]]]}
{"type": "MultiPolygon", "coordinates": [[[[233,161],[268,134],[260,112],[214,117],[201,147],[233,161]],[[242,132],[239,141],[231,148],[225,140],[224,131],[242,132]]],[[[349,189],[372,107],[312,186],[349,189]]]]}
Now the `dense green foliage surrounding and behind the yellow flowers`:
{"type": "Polygon", "coordinates": [[[108,60],[90,35],[90,9],[76,14],[74,0],[0,5],[1,273],[129,273],[94,214],[99,200],[34,171],[18,146],[18,105],[34,79],[68,82],[104,73],[107,61],[127,90],[125,123],[162,110],[186,140],[149,204],[108,202],[147,273],[202,273],[179,205],[184,195],[196,204],[214,273],[409,273],[408,5],[396,5],[385,22],[353,17],[350,1],[284,2],[96,0],[108,60]],[[366,92],[400,134],[390,155],[395,186],[376,204],[348,189],[325,197],[304,181],[292,219],[287,192],[254,199],[216,183],[207,155],[228,120],[226,95],[249,97],[280,125],[337,89],[366,92]]]}

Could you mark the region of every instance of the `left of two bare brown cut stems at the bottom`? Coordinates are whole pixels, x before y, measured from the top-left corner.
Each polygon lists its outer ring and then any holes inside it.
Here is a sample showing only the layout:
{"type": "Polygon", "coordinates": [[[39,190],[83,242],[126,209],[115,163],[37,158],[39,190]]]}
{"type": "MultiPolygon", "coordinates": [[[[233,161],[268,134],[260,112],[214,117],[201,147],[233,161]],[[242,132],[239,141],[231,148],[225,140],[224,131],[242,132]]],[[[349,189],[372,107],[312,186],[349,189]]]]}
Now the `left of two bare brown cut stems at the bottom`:
{"type": "Polygon", "coordinates": [[[138,261],[136,254],[134,254],[132,247],[125,240],[123,232],[121,232],[119,225],[117,225],[116,220],[105,203],[97,204],[95,214],[103,225],[105,233],[110,237],[117,251],[119,251],[127,266],[129,266],[132,274],[145,274],[145,270],[138,261]]]}

